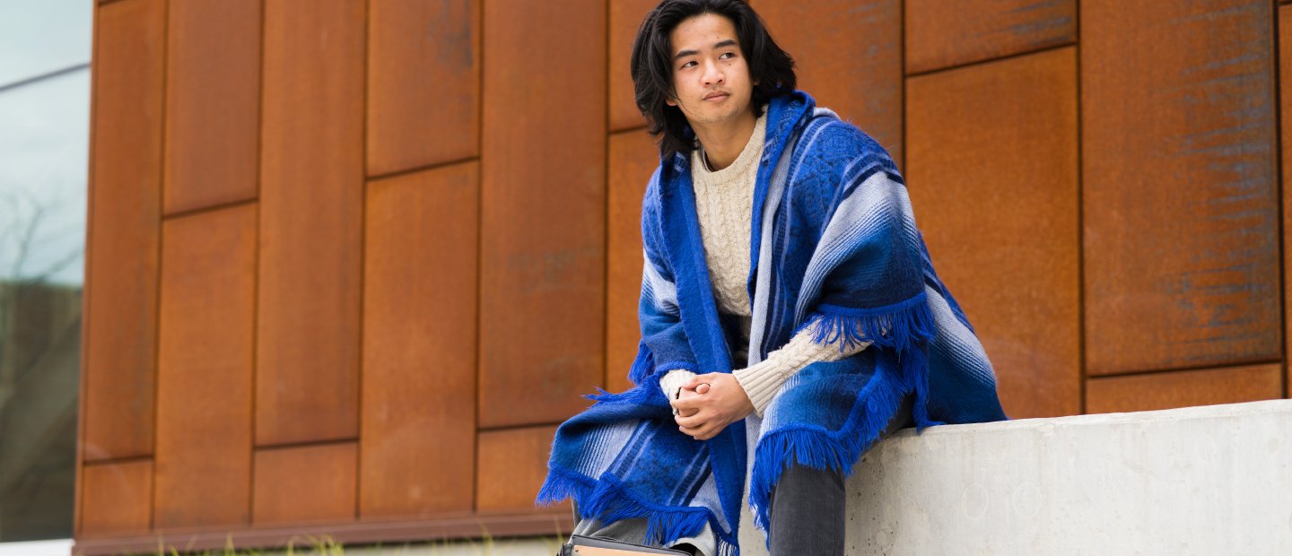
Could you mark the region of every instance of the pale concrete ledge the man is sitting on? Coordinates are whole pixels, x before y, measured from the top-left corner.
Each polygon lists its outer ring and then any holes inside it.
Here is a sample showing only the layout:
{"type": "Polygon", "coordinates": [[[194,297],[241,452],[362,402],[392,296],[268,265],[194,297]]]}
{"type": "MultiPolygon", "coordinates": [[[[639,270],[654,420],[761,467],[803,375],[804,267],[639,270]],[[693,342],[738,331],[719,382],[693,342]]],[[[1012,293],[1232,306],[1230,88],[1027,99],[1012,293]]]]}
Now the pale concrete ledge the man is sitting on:
{"type": "Polygon", "coordinates": [[[1287,555],[1292,400],[906,430],[848,489],[850,555],[1287,555]]]}

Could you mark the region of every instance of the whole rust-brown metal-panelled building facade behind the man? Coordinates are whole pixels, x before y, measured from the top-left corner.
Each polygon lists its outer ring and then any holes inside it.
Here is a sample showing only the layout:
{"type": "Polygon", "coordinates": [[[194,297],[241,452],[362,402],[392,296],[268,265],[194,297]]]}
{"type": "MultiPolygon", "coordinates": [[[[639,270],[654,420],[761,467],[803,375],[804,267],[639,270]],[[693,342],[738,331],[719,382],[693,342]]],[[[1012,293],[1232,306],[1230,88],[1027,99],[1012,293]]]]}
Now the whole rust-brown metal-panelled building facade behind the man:
{"type": "MultiPolygon", "coordinates": [[[[568,526],[532,499],[628,386],[654,4],[99,1],[76,550],[568,526]]],[[[752,4],[898,161],[1010,417],[1287,396],[1292,5],[752,4]]]]}

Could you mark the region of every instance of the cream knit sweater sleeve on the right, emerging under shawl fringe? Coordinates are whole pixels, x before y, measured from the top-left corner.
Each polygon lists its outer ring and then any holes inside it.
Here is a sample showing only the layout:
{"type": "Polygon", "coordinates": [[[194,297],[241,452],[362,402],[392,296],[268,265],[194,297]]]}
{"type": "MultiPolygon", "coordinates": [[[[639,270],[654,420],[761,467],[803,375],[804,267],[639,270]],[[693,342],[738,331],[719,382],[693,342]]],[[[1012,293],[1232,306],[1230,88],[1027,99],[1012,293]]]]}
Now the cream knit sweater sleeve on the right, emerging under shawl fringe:
{"type": "Polygon", "coordinates": [[[779,350],[767,353],[767,359],[731,372],[736,382],[744,388],[744,393],[753,402],[753,410],[762,417],[767,404],[795,373],[818,361],[839,361],[840,359],[855,355],[867,348],[870,342],[853,344],[846,350],[839,348],[839,342],[817,343],[813,342],[810,326],[798,330],[779,350]]]}

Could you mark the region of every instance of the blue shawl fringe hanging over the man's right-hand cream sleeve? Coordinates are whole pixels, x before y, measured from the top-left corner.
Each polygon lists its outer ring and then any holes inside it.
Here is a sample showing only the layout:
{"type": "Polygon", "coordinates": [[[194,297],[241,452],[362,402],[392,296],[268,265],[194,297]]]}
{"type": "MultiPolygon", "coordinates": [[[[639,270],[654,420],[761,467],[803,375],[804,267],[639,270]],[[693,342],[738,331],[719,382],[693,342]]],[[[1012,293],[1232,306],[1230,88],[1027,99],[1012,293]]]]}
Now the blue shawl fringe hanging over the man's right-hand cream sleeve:
{"type": "Polygon", "coordinates": [[[901,353],[937,334],[924,292],[901,303],[876,308],[820,304],[804,326],[814,326],[813,342],[837,341],[840,351],[870,342],[901,353]]]}

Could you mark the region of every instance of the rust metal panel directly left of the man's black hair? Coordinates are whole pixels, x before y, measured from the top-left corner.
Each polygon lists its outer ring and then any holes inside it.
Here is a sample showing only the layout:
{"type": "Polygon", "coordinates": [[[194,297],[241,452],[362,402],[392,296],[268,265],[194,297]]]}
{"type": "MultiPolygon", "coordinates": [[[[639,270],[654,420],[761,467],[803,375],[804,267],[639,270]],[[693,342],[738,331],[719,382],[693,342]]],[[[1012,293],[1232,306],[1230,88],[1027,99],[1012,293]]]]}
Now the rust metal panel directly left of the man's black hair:
{"type": "Polygon", "coordinates": [[[659,0],[610,0],[610,129],[621,130],[646,125],[637,110],[633,92],[633,39],[642,18],[659,0]]]}

